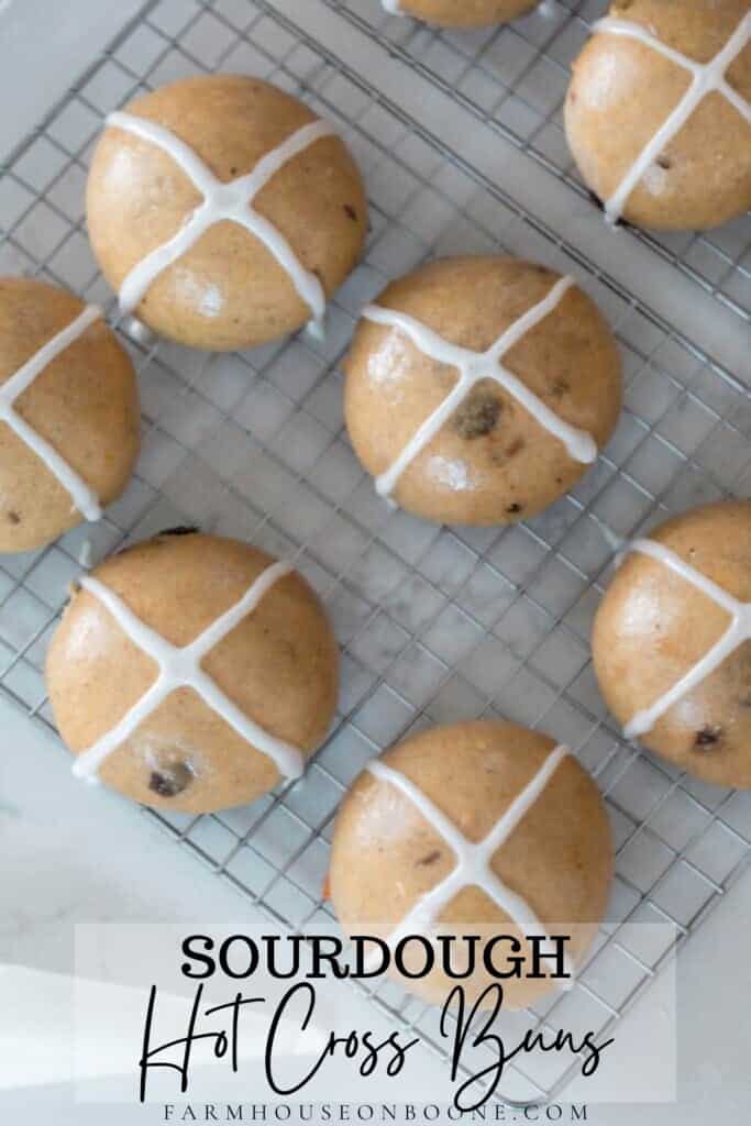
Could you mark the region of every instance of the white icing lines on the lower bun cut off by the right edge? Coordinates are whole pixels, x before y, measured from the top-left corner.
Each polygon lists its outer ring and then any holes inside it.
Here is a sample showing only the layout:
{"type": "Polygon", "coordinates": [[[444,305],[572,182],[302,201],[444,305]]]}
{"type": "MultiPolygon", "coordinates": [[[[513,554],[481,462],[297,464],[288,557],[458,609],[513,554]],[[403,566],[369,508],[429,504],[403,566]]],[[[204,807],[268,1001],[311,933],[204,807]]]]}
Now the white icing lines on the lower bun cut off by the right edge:
{"type": "Polygon", "coordinates": [[[637,712],[634,718],[624,727],[626,739],[637,739],[652,731],[655,723],[662,718],[673,704],[678,704],[688,692],[692,691],[707,677],[715,672],[735,650],[746,641],[751,641],[751,602],[740,602],[726,590],[718,587],[706,574],[697,571],[689,563],[677,555],[664,544],[659,544],[654,539],[635,539],[628,545],[627,552],[638,552],[649,555],[664,566],[670,568],[676,574],[690,582],[691,586],[700,590],[703,595],[726,610],[731,623],[719,641],[686,673],[685,677],[673,685],[660,699],[642,712],[637,712]]]}

